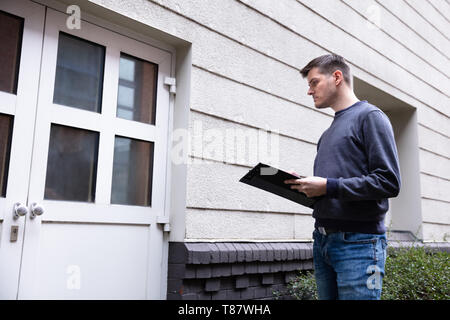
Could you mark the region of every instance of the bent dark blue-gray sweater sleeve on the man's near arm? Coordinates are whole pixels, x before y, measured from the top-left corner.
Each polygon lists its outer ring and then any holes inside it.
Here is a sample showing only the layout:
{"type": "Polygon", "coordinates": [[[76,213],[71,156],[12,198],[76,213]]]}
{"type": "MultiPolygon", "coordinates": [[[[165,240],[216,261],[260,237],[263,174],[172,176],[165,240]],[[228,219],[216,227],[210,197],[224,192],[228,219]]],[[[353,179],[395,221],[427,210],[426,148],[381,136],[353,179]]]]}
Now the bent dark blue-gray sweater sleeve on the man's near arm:
{"type": "Polygon", "coordinates": [[[401,179],[394,133],[387,116],[369,112],[362,124],[368,174],[351,178],[327,178],[327,197],[344,201],[396,197],[401,179]]]}

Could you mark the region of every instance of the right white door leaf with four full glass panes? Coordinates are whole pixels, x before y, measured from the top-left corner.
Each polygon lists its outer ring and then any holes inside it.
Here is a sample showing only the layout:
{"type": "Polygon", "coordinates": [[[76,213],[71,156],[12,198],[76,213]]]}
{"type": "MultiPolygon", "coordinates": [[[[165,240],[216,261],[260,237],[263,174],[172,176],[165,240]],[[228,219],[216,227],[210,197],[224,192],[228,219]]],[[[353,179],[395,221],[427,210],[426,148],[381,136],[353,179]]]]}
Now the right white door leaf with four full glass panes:
{"type": "Polygon", "coordinates": [[[164,298],[171,54],[66,19],[47,9],[18,298],[164,298]]]}

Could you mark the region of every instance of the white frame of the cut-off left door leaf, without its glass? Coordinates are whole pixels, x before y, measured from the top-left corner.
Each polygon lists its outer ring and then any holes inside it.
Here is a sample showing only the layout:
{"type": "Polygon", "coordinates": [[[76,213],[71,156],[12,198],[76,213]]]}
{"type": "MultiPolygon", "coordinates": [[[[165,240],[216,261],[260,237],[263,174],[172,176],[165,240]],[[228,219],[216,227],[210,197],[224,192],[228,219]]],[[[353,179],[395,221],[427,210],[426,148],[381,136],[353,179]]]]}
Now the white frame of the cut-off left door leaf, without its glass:
{"type": "Polygon", "coordinates": [[[6,194],[0,197],[0,299],[16,299],[26,217],[13,219],[13,206],[27,205],[45,8],[2,0],[0,10],[23,19],[17,94],[0,92],[0,114],[13,117],[6,194]],[[13,226],[18,235],[11,242],[13,226]]]}

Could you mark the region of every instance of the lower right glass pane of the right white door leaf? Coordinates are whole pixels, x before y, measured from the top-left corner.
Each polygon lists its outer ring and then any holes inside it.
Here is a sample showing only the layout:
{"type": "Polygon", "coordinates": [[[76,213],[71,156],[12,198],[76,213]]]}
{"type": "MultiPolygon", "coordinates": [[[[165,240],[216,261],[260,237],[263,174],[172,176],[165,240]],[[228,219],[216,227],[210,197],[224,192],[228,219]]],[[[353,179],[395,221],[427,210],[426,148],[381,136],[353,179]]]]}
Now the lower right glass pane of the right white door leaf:
{"type": "Polygon", "coordinates": [[[117,137],[111,203],[151,206],[153,142],[117,137]]]}

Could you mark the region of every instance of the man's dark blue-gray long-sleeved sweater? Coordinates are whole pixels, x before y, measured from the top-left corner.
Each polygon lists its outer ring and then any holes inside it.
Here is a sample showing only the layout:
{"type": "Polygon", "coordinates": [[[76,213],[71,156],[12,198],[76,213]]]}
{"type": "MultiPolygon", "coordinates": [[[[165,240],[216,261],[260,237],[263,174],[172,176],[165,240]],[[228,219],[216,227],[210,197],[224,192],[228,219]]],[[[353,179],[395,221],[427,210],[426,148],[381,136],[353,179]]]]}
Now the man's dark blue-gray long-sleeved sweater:
{"type": "Polygon", "coordinates": [[[401,185],[388,117],[367,101],[336,112],[317,144],[314,175],[327,178],[327,193],[314,205],[316,227],[384,233],[388,198],[401,185]]]}

